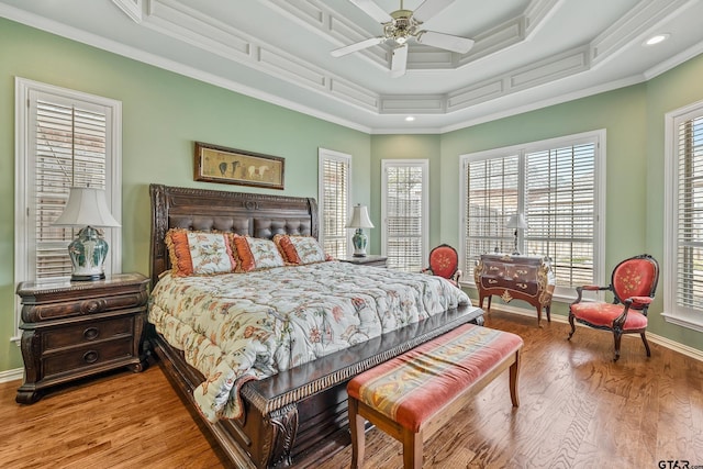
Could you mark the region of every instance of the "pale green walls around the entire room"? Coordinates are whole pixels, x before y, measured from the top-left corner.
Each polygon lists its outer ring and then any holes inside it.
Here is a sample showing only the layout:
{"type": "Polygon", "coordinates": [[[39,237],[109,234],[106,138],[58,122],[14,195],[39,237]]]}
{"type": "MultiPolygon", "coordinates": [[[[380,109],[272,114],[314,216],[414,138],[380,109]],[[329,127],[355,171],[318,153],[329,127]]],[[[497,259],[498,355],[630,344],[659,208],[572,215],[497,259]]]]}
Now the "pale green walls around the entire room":
{"type": "MultiPolygon", "coordinates": [[[[663,260],[663,114],[703,99],[703,56],[627,88],[443,135],[367,135],[0,19],[0,258],[14,256],[14,77],[123,104],[123,270],[148,272],[148,185],[316,197],[317,148],[353,155],[352,201],[380,226],[382,159],[429,159],[429,245],[459,245],[459,155],[605,129],[606,269],[648,252],[663,260]],[[194,182],[193,141],[286,158],[286,190],[194,182]],[[373,208],[377,208],[376,210],[373,208]]],[[[380,230],[369,231],[370,252],[380,230]]],[[[0,372],[22,366],[13,334],[14,279],[0,266],[0,372]]],[[[703,349],[702,335],[665,323],[660,279],[650,331],[703,349]]],[[[555,312],[565,314],[566,305],[555,312]]]]}

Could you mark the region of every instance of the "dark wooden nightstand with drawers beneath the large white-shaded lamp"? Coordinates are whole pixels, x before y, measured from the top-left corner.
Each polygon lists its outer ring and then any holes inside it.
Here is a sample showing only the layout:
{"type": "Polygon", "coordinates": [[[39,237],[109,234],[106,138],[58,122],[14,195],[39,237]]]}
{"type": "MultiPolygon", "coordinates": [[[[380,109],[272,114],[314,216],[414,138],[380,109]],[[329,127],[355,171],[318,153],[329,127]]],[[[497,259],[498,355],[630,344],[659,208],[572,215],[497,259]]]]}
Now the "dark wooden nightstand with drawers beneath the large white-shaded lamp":
{"type": "Polygon", "coordinates": [[[120,273],[20,283],[24,382],[15,401],[34,403],[45,388],[114,368],[142,371],[148,282],[141,273],[120,273]]]}

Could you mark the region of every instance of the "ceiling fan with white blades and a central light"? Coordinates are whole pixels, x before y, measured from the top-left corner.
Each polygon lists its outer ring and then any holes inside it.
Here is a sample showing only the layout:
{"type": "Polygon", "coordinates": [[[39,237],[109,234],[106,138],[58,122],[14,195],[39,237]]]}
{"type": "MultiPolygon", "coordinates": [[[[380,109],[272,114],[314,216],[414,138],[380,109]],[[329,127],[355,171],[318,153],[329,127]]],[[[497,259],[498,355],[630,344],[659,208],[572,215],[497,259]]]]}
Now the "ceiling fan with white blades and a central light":
{"type": "Polygon", "coordinates": [[[405,75],[408,68],[408,41],[411,38],[414,38],[420,44],[459,54],[466,54],[473,46],[473,41],[466,37],[420,29],[425,21],[454,3],[455,0],[425,0],[415,11],[403,9],[403,0],[400,0],[400,10],[391,13],[387,13],[372,0],[349,1],[381,23],[383,25],[383,35],[334,49],[332,51],[333,57],[342,57],[384,42],[392,42],[391,76],[400,77],[405,75]]]}

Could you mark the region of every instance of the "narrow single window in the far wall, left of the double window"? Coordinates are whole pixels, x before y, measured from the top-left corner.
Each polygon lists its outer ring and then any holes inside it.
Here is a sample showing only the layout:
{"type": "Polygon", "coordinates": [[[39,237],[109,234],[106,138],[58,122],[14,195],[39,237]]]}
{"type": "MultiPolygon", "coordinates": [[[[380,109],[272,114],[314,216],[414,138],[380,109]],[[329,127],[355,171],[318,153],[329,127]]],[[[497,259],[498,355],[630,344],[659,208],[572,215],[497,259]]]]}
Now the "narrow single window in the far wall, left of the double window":
{"type": "Polygon", "coordinates": [[[427,259],[429,164],[384,159],[381,166],[381,252],[389,269],[420,271],[427,259]]]}

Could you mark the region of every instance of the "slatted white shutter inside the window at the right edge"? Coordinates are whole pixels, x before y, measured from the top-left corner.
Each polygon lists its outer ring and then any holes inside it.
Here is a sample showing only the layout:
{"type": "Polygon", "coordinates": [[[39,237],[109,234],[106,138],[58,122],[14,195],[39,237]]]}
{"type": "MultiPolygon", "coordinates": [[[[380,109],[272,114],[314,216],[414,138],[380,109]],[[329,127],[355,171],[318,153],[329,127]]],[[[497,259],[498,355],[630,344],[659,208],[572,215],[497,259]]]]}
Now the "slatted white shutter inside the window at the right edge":
{"type": "Polygon", "coordinates": [[[678,306],[703,310],[703,115],[678,127],[678,306]]]}

